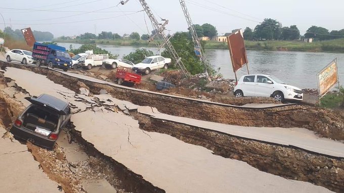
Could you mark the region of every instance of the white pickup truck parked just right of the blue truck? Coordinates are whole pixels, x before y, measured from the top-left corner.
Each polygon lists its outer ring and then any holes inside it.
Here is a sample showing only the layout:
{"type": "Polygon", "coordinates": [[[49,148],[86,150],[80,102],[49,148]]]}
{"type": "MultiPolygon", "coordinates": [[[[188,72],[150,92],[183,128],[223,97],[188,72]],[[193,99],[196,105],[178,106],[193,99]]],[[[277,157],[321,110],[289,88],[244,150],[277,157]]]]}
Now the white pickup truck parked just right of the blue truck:
{"type": "Polygon", "coordinates": [[[78,66],[90,70],[93,67],[102,66],[103,60],[108,58],[109,54],[93,54],[93,51],[90,51],[80,58],[78,66]]]}

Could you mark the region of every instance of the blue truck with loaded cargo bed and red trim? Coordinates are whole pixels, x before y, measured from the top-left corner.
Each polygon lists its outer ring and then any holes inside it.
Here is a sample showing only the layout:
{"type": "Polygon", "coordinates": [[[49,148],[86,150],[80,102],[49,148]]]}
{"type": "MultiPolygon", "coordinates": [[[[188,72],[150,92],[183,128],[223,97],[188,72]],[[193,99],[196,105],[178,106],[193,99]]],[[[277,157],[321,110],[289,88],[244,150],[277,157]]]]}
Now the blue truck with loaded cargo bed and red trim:
{"type": "Polygon", "coordinates": [[[72,68],[72,58],[66,48],[55,44],[42,44],[35,42],[32,49],[32,58],[36,66],[47,65],[48,68],[58,68],[67,71],[72,68]]]}

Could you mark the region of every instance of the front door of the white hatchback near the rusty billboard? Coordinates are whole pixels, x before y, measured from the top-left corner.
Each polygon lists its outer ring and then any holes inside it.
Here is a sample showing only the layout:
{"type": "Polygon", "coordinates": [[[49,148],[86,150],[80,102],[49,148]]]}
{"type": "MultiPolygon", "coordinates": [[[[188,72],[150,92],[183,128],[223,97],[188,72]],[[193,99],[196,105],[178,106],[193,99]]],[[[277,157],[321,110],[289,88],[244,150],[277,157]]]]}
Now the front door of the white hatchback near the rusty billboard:
{"type": "Polygon", "coordinates": [[[274,84],[266,76],[257,75],[255,85],[255,96],[270,97],[274,84]]]}

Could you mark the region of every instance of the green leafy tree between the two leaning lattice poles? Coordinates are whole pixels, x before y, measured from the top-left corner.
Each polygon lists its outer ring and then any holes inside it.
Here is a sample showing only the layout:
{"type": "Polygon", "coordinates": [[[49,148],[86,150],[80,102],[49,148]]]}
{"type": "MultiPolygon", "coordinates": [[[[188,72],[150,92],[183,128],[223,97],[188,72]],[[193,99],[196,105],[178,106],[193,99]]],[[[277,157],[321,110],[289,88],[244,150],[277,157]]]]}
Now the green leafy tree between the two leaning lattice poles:
{"type": "MultiPolygon", "coordinates": [[[[200,59],[195,55],[194,43],[188,32],[175,33],[174,36],[171,37],[170,42],[176,49],[178,55],[182,58],[185,68],[191,74],[195,75],[204,72],[204,67],[200,59]]],[[[163,51],[161,55],[173,58],[167,50],[163,51]]]]}

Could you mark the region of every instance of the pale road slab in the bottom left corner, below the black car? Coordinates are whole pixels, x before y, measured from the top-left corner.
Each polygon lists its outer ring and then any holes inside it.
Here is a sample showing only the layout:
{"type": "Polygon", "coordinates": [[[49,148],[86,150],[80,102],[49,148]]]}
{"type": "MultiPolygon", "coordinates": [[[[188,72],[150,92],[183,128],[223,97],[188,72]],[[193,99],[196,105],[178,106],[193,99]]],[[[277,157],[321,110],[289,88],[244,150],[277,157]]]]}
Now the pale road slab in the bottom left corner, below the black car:
{"type": "MultiPolygon", "coordinates": [[[[0,127],[1,132],[5,132],[0,127]]],[[[34,160],[26,145],[0,138],[0,192],[62,192],[34,160]]]]}

